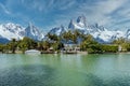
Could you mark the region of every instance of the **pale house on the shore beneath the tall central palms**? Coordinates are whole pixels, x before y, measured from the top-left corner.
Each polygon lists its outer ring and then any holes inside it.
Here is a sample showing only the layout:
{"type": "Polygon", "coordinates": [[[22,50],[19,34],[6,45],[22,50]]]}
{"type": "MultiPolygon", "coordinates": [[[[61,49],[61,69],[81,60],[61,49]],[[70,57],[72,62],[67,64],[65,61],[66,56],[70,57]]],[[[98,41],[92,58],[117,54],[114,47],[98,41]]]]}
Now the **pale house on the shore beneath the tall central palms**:
{"type": "Polygon", "coordinates": [[[63,53],[76,54],[78,52],[80,52],[80,47],[78,44],[64,44],[63,53]]]}

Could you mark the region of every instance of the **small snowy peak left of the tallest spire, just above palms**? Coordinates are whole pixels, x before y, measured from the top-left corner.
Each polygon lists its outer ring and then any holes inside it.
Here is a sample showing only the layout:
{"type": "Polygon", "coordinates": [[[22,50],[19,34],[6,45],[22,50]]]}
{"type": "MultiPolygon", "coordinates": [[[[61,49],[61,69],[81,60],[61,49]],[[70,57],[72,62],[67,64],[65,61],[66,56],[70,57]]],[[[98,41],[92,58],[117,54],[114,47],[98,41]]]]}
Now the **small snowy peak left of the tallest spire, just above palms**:
{"type": "Polygon", "coordinates": [[[66,30],[63,26],[61,27],[55,27],[55,28],[52,28],[49,33],[51,34],[56,34],[56,35],[61,35],[62,33],[64,33],[66,30]]]}

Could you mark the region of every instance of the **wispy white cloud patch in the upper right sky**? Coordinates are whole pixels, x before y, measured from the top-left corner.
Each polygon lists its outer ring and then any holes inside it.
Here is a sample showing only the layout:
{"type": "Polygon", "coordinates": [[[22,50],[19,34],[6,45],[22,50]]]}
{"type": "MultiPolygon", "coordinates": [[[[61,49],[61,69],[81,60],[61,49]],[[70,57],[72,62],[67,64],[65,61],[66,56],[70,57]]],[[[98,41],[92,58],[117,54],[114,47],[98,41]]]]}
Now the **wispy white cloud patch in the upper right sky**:
{"type": "Polygon", "coordinates": [[[91,11],[93,11],[91,17],[94,17],[94,19],[102,25],[110,24],[114,19],[110,14],[122,6],[126,1],[127,0],[107,0],[98,2],[91,9],[91,11]]]}

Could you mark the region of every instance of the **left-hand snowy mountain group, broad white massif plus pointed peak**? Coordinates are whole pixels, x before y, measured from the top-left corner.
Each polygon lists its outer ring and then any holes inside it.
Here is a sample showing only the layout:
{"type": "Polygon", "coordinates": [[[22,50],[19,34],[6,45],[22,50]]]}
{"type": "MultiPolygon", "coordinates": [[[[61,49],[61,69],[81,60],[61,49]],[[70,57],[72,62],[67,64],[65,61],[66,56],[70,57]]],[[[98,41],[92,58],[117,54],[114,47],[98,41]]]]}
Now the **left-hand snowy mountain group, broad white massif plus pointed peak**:
{"type": "Polygon", "coordinates": [[[28,37],[34,40],[42,40],[43,33],[34,25],[29,25],[27,28],[13,23],[0,25],[0,43],[11,41],[12,39],[21,40],[24,37],[28,37]]]}

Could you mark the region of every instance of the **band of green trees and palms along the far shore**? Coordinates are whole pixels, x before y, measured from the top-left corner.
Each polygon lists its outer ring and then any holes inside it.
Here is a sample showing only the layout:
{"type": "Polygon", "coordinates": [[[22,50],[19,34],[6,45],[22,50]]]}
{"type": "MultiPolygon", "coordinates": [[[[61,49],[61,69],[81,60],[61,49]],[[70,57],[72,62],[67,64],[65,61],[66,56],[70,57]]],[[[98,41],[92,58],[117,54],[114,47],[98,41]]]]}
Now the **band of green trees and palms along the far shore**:
{"type": "Polygon", "coordinates": [[[24,54],[28,49],[37,49],[41,54],[129,53],[130,41],[119,38],[112,43],[103,44],[95,41],[92,35],[75,30],[61,35],[48,33],[44,41],[35,41],[25,37],[23,40],[12,39],[9,43],[0,44],[0,53],[3,54],[24,54]]]}

